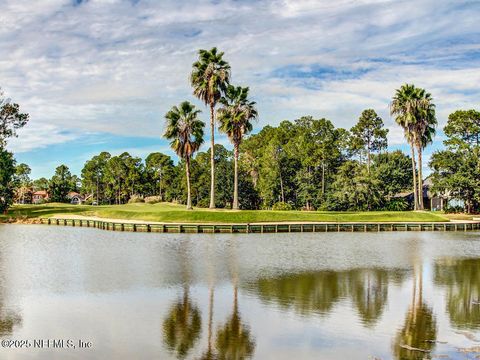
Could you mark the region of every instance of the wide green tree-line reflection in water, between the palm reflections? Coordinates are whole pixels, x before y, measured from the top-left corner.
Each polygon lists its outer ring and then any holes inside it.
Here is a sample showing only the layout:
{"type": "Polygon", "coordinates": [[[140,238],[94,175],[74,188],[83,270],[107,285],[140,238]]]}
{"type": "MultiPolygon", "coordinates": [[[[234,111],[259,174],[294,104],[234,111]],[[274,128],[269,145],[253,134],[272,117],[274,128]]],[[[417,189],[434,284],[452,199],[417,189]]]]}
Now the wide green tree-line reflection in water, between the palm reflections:
{"type": "Polygon", "coordinates": [[[374,326],[388,301],[389,283],[401,283],[406,270],[352,269],[316,271],[261,278],[247,290],[255,292],[266,303],[275,302],[283,309],[298,313],[327,315],[335,304],[350,298],[367,326],[374,326]]]}

